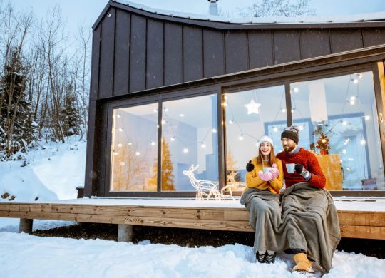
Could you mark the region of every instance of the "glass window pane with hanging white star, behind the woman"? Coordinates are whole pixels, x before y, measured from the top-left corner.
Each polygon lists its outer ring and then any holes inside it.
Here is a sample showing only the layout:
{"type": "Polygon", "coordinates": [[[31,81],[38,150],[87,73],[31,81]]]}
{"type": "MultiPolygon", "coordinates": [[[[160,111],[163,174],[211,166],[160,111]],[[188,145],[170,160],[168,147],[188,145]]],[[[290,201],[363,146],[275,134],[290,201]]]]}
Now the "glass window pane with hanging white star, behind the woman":
{"type": "Polygon", "coordinates": [[[282,150],[280,135],[287,127],[284,86],[226,93],[224,101],[227,183],[242,185],[246,163],[257,155],[256,143],[263,135],[273,139],[274,153],[282,150]]]}

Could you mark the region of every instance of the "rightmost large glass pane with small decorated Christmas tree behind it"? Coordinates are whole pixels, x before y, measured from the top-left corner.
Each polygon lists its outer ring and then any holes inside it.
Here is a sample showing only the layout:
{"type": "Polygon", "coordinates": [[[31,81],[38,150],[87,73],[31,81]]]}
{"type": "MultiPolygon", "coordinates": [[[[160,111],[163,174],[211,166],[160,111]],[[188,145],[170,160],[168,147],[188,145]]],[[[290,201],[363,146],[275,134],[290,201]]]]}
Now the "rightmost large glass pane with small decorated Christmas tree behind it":
{"type": "Polygon", "coordinates": [[[385,190],[373,73],[292,83],[299,146],[312,149],[329,190],[385,190]]]}

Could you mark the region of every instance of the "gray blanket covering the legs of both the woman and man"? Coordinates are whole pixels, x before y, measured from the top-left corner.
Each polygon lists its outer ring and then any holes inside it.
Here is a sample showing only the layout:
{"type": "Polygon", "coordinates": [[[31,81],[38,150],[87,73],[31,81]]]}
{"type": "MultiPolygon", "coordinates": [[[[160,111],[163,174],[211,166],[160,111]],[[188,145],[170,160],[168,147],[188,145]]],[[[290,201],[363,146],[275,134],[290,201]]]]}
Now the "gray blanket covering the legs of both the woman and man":
{"type": "Polygon", "coordinates": [[[280,207],[279,195],[269,193],[248,189],[240,200],[250,212],[250,226],[255,229],[255,252],[303,249],[309,259],[329,272],[341,239],[337,210],[329,192],[300,182],[281,194],[280,207]]]}

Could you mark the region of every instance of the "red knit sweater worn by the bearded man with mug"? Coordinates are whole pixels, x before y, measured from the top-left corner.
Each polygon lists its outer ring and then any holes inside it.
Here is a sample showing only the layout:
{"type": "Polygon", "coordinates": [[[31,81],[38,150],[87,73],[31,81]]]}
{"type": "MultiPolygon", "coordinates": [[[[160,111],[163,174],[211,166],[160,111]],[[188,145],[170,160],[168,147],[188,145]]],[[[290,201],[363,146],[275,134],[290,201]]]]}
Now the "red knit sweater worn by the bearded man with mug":
{"type": "Polygon", "coordinates": [[[317,188],[325,187],[326,178],[324,176],[324,173],[322,173],[322,169],[319,166],[318,160],[313,153],[310,153],[308,150],[304,150],[303,148],[301,148],[299,152],[295,155],[290,155],[289,153],[282,151],[281,153],[277,154],[277,158],[282,160],[282,166],[284,171],[284,183],[286,185],[286,188],[289,188],[290,186],[295,185],[298,182],[307,181],[304,177],[302,177],[302,175],[299,175],[295,172],[292,174],[287,173],[287,163],[297,163],[304,165],[304,168],[306,168],[310,173],[312,173],[312,177],[307,182],[317,188]]]}

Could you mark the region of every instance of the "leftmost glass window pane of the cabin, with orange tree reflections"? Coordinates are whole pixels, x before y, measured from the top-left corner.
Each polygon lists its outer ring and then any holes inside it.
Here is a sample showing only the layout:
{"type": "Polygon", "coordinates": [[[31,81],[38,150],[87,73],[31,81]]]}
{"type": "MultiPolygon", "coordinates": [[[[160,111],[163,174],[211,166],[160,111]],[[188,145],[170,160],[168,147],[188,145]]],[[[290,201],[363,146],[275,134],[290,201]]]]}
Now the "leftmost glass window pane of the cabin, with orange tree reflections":
{"type": "Polygon", "coordinates": [[[158,103],[113,110],[111,191],[157,190],[158,103]]]}

